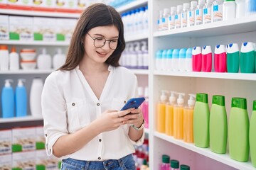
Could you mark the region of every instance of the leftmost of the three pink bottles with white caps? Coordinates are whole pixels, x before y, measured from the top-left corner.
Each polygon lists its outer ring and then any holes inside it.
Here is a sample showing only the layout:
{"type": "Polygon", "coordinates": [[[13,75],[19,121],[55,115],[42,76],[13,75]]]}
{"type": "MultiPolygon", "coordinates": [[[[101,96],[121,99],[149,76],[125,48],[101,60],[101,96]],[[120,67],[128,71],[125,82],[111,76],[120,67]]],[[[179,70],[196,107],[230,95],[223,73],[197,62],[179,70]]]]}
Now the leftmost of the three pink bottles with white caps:
{"type": "Polygon", "coordinates": [[[201,72],[201,68],[202,68],[201,47],[193,47],[193,49],[192,49],[192,70],[193,70],[193,72],[201,72]]]}

